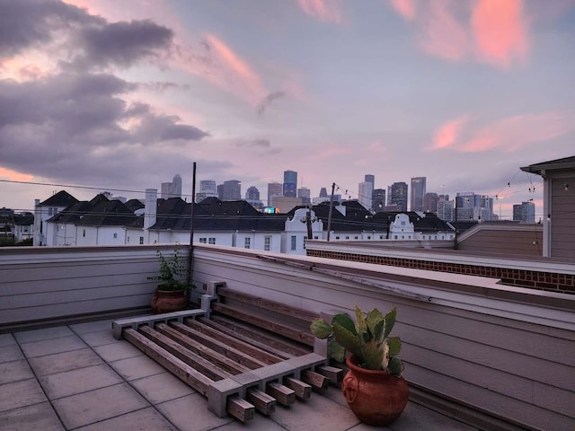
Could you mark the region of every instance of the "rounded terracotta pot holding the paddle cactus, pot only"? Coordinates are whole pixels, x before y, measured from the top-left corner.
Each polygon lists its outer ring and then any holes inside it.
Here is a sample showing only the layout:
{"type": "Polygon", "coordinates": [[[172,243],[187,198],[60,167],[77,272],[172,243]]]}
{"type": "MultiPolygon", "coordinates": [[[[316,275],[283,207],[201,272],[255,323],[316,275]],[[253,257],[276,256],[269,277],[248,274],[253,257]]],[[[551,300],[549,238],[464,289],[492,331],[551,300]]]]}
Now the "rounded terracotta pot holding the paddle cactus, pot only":
{"type": "Polygon", "coordinates": [[[359,420],[383,427],[399,418],[410,393],[405,379],[385,371],[361,368],[353,356],[346,359],[346,364],[349,372],[343,378],[341,390],[359,420]]]}

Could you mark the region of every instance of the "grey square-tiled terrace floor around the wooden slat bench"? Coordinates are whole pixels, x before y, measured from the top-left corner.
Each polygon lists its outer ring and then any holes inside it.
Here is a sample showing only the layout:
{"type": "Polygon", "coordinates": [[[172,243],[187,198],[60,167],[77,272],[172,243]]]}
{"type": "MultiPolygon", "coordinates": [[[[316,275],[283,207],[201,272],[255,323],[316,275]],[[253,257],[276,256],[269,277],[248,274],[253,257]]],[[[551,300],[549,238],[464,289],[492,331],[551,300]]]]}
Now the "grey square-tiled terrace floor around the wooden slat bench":
{"type": "Polygon", "coordinates": [[[0,429],[59,430],[315,430],[476,429],[409,402],[393,425],[359,423],[332,387],[242,424],[217,418],[207,400],[128,341],[111,321],[0,334],[0,429]]]}

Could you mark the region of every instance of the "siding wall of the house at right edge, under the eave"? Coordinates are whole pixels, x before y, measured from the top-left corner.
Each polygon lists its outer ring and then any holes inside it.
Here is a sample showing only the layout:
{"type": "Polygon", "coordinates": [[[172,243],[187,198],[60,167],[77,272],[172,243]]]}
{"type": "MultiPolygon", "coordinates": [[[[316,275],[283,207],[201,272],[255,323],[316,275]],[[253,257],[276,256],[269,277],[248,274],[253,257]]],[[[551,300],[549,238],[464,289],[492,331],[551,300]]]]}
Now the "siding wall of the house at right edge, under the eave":
{"type": "Polygon", "coordinates": [[[575,258],[575,177],[551,183],[551,255],[575,258]],[[565,189],[565,184],[568,188],[565,189]]]}

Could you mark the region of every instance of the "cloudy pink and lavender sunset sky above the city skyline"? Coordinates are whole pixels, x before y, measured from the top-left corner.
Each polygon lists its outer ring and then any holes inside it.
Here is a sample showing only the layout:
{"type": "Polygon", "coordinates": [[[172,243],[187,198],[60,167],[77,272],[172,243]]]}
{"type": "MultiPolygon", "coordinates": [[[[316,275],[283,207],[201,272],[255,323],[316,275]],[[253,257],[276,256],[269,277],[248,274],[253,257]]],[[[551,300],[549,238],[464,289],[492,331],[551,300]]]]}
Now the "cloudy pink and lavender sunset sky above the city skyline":
{"type": "MultiPolygon", "coordinates": [[[[512,205],[575,154],[575,0],[0,0],[0,207],[178,173],[512,205]],[[77,187],[72,187],[77,186],[77,187]]],[[[188,198],[190,200],[190,198],[188,198]]]]}

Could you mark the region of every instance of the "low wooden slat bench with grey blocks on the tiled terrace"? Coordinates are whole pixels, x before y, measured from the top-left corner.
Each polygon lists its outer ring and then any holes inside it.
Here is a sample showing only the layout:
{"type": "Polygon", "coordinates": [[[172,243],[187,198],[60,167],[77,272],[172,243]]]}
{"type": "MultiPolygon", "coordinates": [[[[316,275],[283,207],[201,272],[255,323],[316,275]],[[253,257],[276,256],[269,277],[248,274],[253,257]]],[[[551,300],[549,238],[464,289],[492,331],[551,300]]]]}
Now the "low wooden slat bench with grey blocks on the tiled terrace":
{"type": "Polygon", "coordinates": [[[212,282],[199,309],[114,321],[112,330],[207,397],[218,417],[245,422],[341,381],[314,353],[316,317],[212,282]]]}

